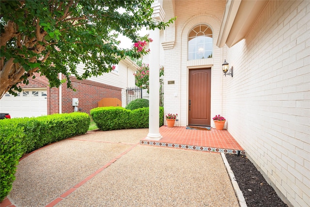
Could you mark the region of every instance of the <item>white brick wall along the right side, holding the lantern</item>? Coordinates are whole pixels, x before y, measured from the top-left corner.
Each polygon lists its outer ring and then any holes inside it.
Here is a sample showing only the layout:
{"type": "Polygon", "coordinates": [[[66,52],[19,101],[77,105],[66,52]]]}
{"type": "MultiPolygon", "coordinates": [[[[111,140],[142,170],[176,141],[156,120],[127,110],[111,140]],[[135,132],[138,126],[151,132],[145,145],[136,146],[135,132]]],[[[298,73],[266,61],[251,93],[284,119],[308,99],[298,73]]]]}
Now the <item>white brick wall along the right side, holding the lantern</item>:
{"type": "Polygon", "coordinates": [[[295,207],[310,205],[310,1],[269,1],[227,50],[228,130],[295,207]]]}

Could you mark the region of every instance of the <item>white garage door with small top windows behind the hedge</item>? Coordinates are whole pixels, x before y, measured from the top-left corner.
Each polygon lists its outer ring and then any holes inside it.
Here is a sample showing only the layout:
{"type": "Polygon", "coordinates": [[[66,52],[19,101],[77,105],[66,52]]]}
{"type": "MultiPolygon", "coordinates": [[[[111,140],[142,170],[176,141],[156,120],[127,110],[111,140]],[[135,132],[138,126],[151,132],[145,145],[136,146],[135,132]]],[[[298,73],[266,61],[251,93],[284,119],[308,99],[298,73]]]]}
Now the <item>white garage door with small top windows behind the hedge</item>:
{"type": "Polygon", "coordinates": [[[0,99],[0,111],[11,118],[47,115],[47,89],[24,89],[18,96],[6,93],[0,99]]]}

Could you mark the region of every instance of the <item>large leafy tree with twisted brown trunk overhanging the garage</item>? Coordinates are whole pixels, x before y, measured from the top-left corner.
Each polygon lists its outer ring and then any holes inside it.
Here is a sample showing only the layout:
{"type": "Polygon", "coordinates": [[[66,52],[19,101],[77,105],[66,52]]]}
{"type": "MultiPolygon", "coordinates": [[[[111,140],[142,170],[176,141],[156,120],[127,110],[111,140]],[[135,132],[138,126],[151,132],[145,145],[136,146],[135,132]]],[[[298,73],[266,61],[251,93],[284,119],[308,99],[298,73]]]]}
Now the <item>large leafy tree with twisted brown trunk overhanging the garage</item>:
{"type": "Polygon", "coordinates": [[[62,73],[67,87],[78,80],[111,71],[126,56],[139,58],[146,36],[141,28],[164,29],[167,23],[152,18],[153,0],[1,0],[0,97],[21,91],[33,73],[45,75],[50,87],[58,87],[62,73]],[[137,45],[118,48],[118,33],[137,45]],[[137,46],[137,47],[136,47],[137,46]],[[77,64],[85,64],[78,74],[77,64]]]}

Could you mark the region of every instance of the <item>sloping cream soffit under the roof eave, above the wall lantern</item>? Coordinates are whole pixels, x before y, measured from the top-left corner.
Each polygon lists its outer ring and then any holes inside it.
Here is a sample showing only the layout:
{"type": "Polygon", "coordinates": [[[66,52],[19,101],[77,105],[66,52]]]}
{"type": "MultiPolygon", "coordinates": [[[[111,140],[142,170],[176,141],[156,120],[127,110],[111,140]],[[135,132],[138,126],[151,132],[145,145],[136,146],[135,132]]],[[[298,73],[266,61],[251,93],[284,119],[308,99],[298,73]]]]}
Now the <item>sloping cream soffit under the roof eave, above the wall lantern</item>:
{"type": "Polygon", "coordinates": [[[244,39],[268,0],[227,0],[217,46],[230,48],[244,39]]]}

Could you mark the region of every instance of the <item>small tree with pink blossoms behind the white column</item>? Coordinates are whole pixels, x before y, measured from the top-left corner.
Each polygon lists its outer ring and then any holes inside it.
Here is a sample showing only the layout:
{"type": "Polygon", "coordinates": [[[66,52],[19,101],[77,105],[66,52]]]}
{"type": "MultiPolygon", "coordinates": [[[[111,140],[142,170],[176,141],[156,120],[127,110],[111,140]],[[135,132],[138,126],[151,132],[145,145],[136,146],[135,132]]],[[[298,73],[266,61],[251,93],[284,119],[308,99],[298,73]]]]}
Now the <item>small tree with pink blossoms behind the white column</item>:
{"type": "MultiPolygon", "coordinates": [[[[152,40],[151,40],[152,41],[152,40]]],[[[149,64],[142,64],[139,68],[137,68],[135,75],[136,79],[136,85],[139,88],[147,89],[147,93],[149,93],[150,86],[149,86],[149,77],[150,77],[150,67],[149,64]]],[[[164,80],[162,78],[164,76],[164,66],[160,66],[159,68],[159,82],[160,82],[160,88],[159,88],[159,106],[163,106],[163,85],[164,80]]]]}

